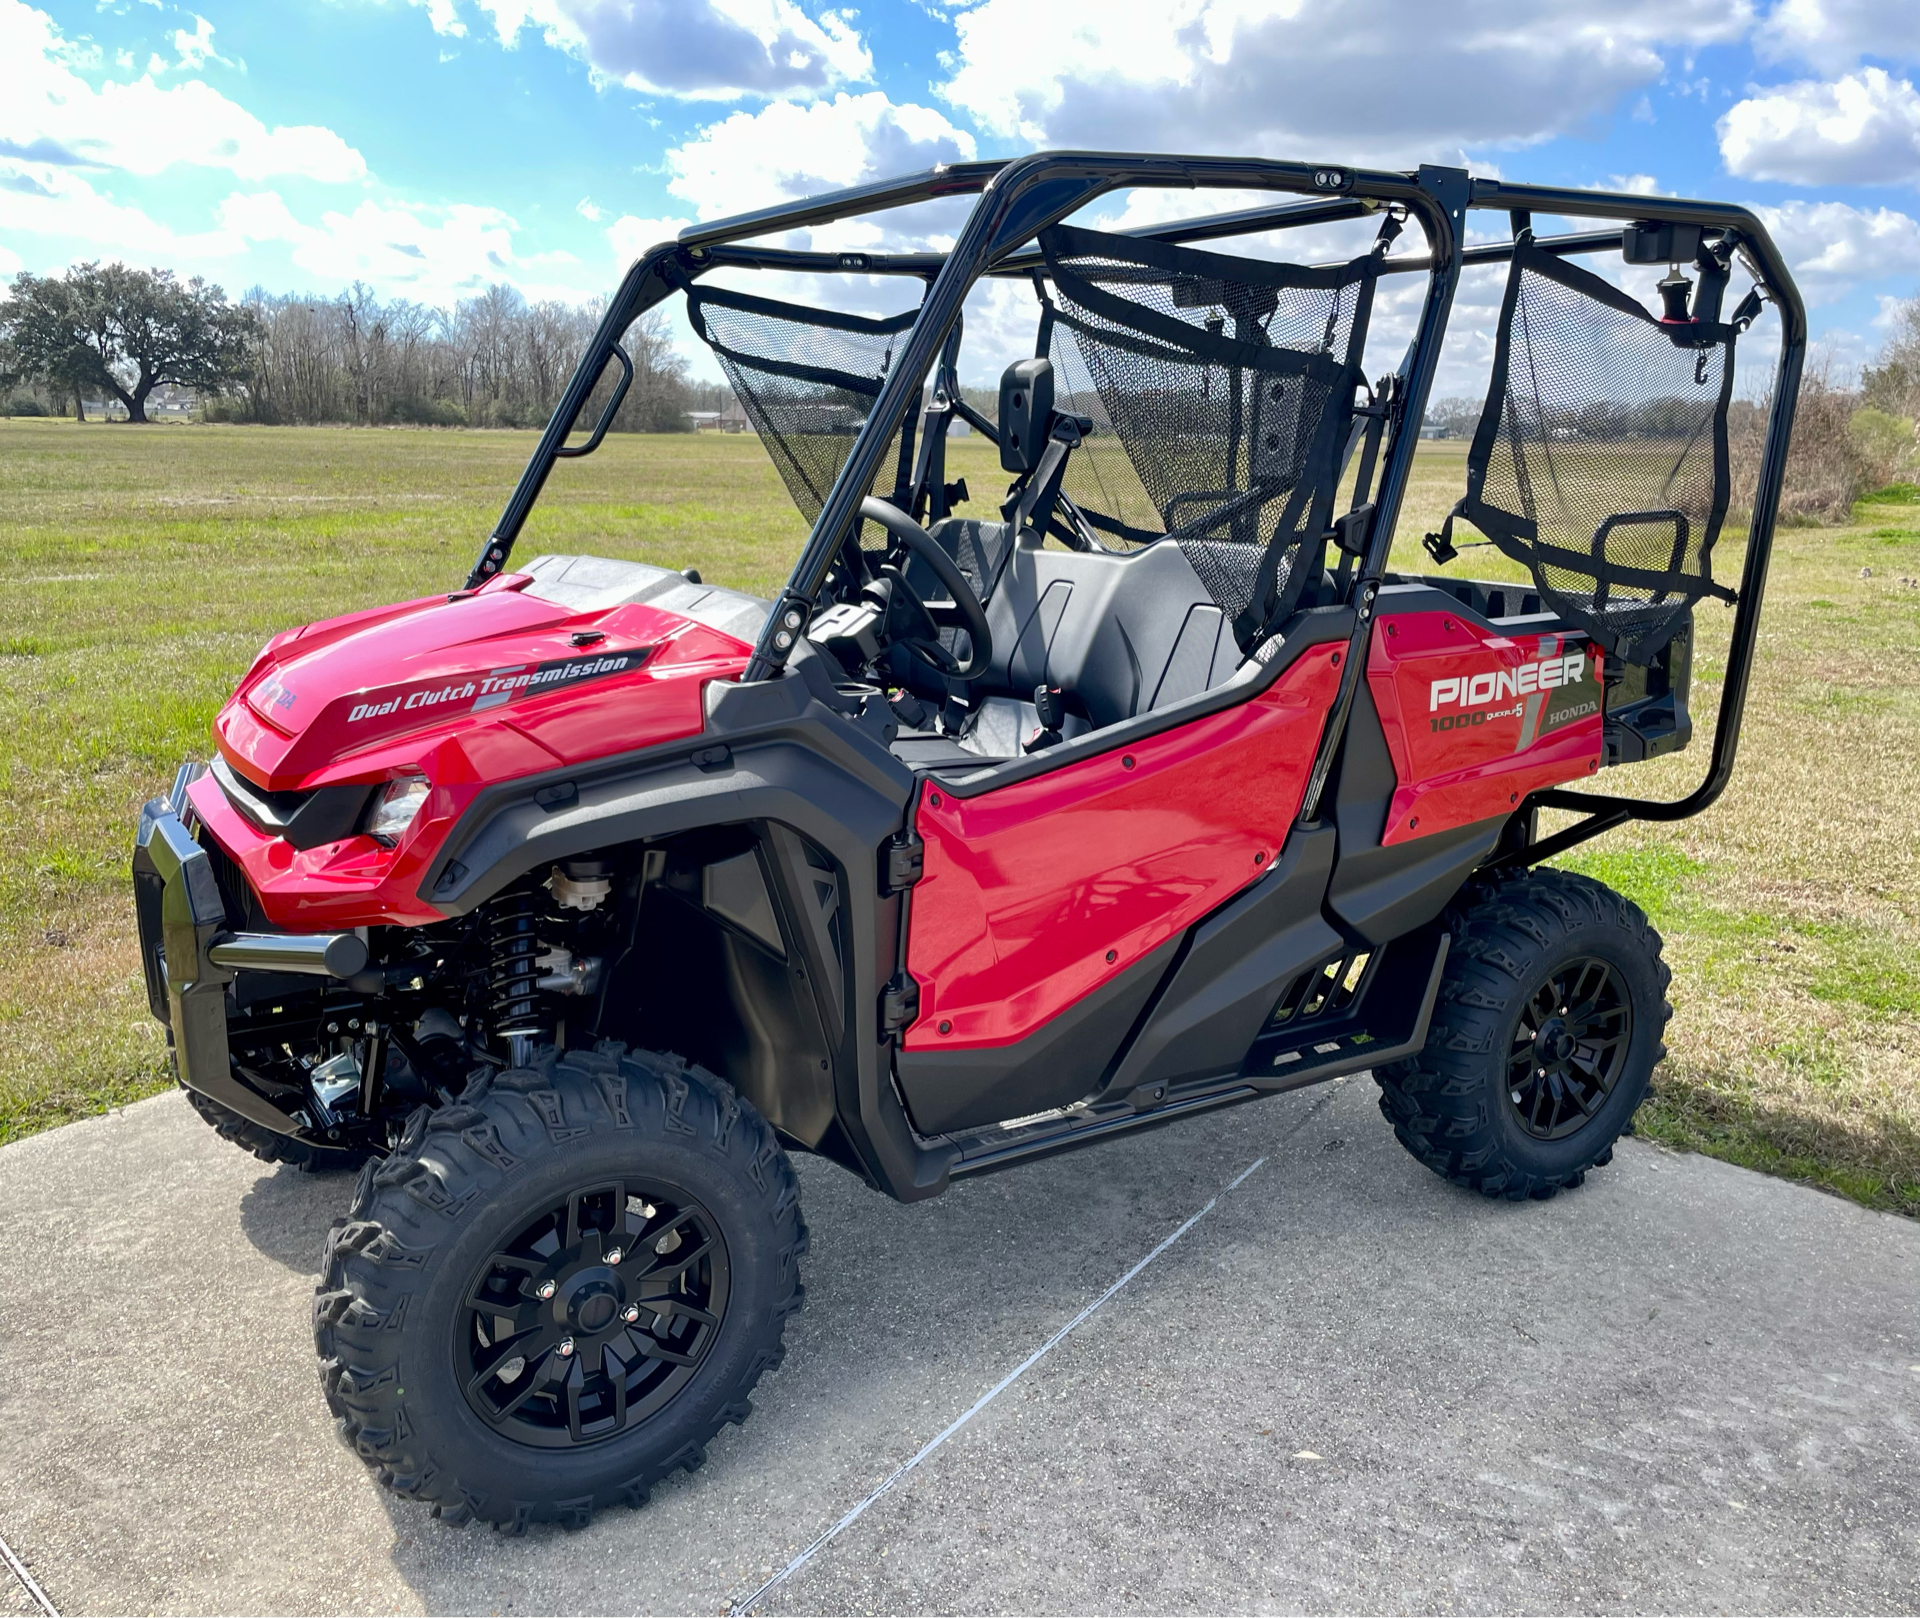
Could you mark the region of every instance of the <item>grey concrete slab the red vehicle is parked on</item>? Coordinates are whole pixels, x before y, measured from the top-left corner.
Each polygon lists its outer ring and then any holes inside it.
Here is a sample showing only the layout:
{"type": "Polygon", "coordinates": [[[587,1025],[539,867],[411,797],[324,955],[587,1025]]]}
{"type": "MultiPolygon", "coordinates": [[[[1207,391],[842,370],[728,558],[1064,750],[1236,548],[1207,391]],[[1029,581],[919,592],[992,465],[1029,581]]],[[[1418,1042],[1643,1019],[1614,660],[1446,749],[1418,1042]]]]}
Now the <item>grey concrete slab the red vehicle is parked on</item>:
{"type": "Polygon", "coordinates": [[[753,1420],[641,1512],[503,1539],[332,1438],[346,1182],[179,1096],[10,1146],[0,1537],[61,1612],[720,1612],[1158,1248],[755,1610],[1920,1608],[1907,1221],[1638,1142],[1488,1203],[1365,1079],[922,1207],[801,1182],[753,1420]]]}

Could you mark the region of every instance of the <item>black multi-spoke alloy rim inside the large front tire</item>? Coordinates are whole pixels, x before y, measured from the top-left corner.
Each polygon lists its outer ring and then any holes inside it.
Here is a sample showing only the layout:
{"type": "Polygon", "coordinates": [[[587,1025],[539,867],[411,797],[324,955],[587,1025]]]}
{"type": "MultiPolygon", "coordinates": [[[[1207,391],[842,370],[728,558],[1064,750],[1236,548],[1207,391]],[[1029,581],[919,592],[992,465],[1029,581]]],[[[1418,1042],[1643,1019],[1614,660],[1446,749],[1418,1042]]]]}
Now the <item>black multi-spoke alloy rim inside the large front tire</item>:
{"type": "Polygon", "coordinates": [[[597,1443],[695,1374],[728,1305],[718,1223],[672,1186],[614,1180],[532,1219],[467,1288],[455,1374],[503,1436],[597,1443]]]}

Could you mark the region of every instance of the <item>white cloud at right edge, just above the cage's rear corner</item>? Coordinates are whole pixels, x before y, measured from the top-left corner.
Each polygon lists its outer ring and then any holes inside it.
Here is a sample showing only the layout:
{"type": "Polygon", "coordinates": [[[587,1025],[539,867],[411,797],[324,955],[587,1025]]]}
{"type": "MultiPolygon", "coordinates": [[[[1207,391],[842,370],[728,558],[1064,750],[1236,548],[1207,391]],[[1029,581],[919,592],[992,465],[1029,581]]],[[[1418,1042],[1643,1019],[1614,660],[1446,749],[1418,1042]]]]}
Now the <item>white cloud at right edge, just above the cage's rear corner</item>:
{"type": "Polygon", "coordinates": [[[1736,175],[1789,184],[1920,180],[1920,92],[1882,67],[1738,102],[1716,125],[1736,175]]]}

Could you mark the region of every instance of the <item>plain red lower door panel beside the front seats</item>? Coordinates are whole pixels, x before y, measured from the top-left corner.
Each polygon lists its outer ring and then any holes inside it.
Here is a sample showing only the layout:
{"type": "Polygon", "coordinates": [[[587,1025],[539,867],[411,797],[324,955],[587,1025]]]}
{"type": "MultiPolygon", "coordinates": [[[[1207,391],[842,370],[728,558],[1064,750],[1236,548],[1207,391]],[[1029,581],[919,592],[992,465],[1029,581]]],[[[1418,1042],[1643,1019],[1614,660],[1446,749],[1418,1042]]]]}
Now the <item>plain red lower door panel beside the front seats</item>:
{"type": "Polygon", "coordinates": [[[1300,808],[1338,662],[1313,647],[1236,708],[977,798],[924,785],[906,1048],[1025,1038],[1256,881],[1300,808]]]}

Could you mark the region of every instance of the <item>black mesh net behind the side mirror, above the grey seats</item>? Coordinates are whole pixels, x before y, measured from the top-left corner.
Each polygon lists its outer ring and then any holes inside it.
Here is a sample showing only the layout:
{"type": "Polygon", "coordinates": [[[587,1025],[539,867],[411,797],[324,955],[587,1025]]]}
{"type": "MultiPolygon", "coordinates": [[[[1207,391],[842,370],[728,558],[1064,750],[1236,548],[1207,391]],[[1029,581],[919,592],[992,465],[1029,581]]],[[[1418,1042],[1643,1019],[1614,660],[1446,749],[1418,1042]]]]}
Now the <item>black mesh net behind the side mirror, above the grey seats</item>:
{"type": "Polygon", "coordinates": [[[1171,537],[1252,649],[1319,557],[1379,259],[1304,269],[1056,225],[1041,234],[1064,491],[1112,547],[1171,537]]]}

